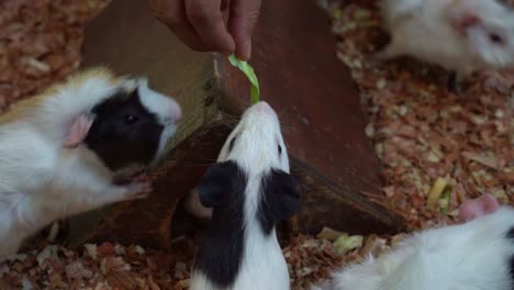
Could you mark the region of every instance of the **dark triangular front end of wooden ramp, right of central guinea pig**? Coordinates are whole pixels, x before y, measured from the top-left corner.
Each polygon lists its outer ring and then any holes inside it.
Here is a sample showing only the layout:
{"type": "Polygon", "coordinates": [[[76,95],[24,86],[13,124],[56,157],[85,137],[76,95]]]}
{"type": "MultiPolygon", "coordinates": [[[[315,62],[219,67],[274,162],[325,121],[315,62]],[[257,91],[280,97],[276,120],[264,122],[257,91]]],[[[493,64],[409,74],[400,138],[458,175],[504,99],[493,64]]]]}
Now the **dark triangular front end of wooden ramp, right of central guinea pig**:
{"type": "Polygon", "coordinates": [[[302,187],[300,212],[289,224],[295,233],[317,234],[324,226],[349,234],[391,234],[401,231],[396,216],[351,188],[338,185],[293,159],[291,172],[302,187]]]}

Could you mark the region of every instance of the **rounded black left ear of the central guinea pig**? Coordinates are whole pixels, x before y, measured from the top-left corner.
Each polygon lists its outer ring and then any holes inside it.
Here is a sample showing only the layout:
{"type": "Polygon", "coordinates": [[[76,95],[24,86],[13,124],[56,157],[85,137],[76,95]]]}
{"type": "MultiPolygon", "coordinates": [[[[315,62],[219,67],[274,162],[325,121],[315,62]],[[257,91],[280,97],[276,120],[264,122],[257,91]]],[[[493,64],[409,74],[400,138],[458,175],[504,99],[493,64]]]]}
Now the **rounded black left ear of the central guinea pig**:
{"type": "Polygon", "coordinates": [[[237,186],[238,168],[234,161],[211,166],[198,186],[200,202],[205,208],[221,207],[237,186]]]}

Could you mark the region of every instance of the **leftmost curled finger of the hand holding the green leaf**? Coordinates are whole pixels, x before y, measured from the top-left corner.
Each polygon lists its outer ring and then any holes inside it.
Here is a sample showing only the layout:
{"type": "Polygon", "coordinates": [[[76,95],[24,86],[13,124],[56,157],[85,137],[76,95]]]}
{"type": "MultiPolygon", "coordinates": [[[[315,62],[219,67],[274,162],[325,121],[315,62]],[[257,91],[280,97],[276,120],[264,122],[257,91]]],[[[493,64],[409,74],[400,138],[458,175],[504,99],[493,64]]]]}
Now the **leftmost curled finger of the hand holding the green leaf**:
{"type": "Polygon", "coordinates": [[[193,51],[208,51],[186,15],[185,0],[150,0],[157,19],[193,51]]]}

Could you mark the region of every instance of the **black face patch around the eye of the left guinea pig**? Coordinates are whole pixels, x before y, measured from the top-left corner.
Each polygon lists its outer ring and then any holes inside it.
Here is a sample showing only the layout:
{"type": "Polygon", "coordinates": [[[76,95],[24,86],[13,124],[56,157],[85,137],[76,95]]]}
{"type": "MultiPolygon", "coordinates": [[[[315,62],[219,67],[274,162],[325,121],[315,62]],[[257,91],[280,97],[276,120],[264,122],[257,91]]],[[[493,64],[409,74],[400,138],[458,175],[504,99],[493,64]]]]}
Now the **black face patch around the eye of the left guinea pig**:
{"type": "Polygon", "coordinates": [[[92,113],[96,118],[85,143],[109,169],[147,165],[154,159],[164,126],[142,104],[137,90],[105,99],[92,113]]]}

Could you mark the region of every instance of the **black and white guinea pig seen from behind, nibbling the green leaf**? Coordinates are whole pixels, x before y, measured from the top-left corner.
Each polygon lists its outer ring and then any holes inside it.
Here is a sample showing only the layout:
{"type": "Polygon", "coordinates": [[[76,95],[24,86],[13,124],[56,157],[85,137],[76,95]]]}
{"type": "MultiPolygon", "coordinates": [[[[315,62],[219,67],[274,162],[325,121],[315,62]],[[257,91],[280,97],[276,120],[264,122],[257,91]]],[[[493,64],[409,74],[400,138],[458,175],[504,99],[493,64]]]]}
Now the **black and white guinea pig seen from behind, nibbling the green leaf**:
{"type": "Polygon", "coordinates": [[[266,102],[243,114],[198,193],[213,213],[190,289],[289,289],[276,223],[298,211],[300,188],[289,174],[278,116],[266,102]]]}

